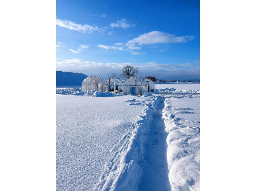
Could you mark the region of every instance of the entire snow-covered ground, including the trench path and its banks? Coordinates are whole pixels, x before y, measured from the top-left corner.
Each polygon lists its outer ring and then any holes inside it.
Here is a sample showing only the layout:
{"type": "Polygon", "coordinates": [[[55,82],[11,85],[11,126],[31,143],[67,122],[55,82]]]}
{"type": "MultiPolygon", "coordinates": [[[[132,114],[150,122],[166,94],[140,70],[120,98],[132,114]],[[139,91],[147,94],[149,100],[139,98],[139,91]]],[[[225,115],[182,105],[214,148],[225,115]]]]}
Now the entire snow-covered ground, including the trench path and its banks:
{"type": "Polygon", "coordinates": [[[57,190],[199,190],[199,83],[164,85],[57,88],[57,190]]]}

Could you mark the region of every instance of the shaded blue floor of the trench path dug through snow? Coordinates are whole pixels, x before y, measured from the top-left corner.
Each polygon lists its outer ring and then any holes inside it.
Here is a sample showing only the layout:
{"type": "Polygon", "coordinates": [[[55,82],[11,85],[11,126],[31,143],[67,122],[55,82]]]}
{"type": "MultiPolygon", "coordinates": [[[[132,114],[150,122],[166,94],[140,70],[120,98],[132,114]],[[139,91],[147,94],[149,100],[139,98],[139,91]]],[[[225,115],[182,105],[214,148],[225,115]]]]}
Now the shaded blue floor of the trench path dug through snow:
{"type": "Polygon", "coordinates": [[[168,164],[166,158],[167,132],[165,131],[162,110],[164,98],[159,97],[150,119],[150,130],[144,150],[143,173],[138,190],[171,190],[168,179],[168,164]]]}

